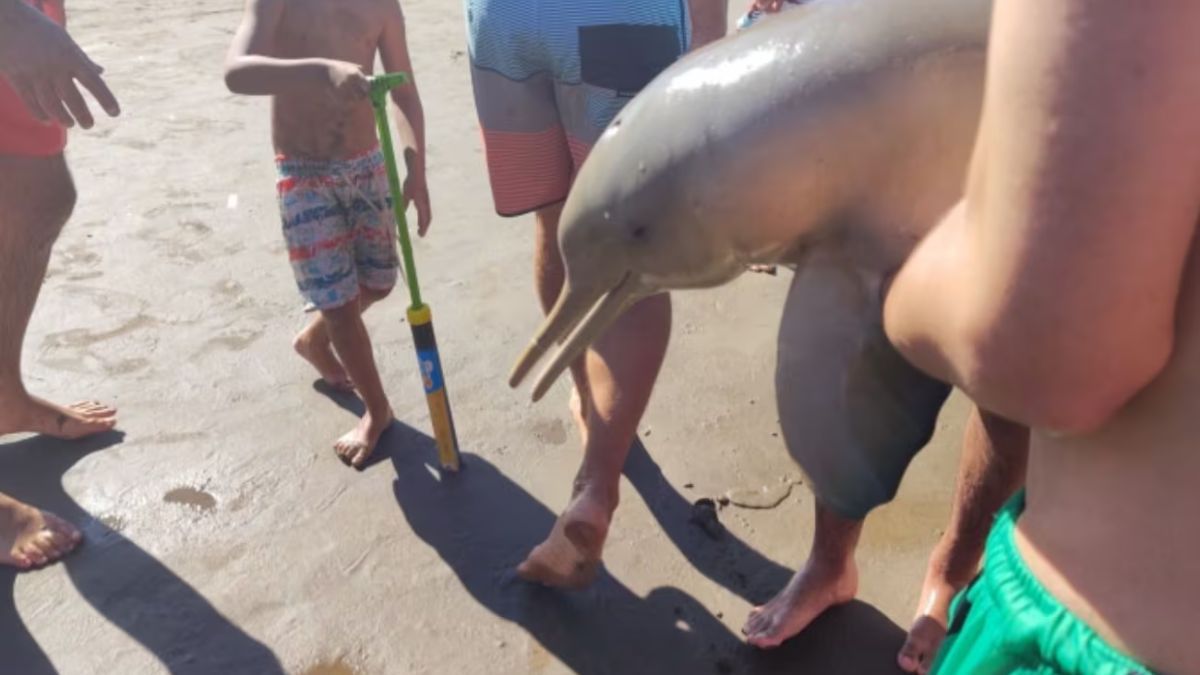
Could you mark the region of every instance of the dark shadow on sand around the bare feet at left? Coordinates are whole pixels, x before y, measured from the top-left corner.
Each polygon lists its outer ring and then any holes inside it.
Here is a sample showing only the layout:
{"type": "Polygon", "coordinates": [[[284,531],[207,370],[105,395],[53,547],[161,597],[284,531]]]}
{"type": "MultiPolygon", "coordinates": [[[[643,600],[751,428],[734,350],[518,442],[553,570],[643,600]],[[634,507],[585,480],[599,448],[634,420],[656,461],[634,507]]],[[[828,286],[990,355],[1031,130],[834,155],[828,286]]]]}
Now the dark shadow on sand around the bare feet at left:
{"type": "MultiPolygon", "coordinates": [[[[282,674],[275,653],[221,615],[203,596],[120,532],[95,519],[62,488],[84,456],[120,443],[109,432],[85,441],[32,437],[0,444],[0,491],[52,510],[85,531],[86,542],[61,565],[88,603],[178,675],[282,674]]],[[[18,573],[0,567],[0,655],[4,673],[54,673],[14,604],[18,573]]],[[[44,604],[54,611],[56,601],[44,604]]],[[[71,622],[64,629],[77,631],[71,622]]],[[[85,635],[78,635],[84,640],[85,635]]],[[[79,647],[83,649],[83,643],[79,647]]],[[[103,663],[103,656],[95,657],[103,663]]],[[[110,671],[100,668],[97,673],[110,671]]]]}

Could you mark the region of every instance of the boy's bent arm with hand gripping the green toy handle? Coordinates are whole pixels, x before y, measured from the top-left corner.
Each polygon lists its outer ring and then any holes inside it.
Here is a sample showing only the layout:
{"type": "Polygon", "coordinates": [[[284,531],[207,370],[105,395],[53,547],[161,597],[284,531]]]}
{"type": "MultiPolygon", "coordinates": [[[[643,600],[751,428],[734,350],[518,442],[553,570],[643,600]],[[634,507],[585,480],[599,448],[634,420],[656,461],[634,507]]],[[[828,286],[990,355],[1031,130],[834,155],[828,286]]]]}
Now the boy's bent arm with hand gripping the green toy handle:
{"type": "Polygon", "coordinates": [[[274,96],[323,86],[347,98],[361,98],[370,92],[370,82],[355,64],[274,58],[275,31],[282,16],[283,0],[246,0],[246,12],[226,58],[229,91],[274,96]]]}

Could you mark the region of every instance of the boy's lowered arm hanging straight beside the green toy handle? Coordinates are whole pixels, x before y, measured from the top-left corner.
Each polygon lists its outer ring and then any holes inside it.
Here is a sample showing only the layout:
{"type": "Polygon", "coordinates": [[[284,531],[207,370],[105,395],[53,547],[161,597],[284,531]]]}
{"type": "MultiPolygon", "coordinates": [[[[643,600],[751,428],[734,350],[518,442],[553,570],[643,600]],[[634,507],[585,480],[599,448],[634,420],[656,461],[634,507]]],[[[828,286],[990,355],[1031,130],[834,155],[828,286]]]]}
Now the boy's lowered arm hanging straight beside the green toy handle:
{"type": "Polygon", "coordinates": [[[425,110],[408,55],[404,14],[395,0],[388,2],[388,18],[379,38],[379,59],[384,71],[408,73],[408,84],[392,89],[391,100],[398,109],[396,127],[404,147],[404,198],[416,205],[416,233],[425,237],[432,219],[430,192],[425,181],[425,110]]]}

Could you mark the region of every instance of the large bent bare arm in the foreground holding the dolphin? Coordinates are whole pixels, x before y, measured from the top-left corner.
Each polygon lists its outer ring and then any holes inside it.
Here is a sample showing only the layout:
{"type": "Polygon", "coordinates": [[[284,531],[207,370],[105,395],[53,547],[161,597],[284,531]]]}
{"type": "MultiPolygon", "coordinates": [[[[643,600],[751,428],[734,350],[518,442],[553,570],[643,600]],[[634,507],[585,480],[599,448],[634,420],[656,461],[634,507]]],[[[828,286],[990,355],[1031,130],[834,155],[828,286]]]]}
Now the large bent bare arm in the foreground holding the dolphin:
{"type": "Polygon", "coordinates": [[[1162,370],[1200,214],[1198,28],[1196,2],[996,2],[966,199],[887,298],[907,358],[1055,431],[1162,370]]]}

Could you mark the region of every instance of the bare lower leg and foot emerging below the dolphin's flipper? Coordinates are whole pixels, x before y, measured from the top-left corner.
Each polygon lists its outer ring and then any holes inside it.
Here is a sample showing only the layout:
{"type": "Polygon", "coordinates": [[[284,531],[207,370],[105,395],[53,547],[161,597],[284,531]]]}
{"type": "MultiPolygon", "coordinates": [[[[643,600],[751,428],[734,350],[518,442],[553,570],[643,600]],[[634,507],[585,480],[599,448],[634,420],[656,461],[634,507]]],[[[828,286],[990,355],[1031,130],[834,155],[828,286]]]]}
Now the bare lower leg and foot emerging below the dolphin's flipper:
{"type": "Polygon", "coordinates": [[[804,631],[830,607],[858,592],[854,549],[863,521],[842,518],[816,502],[812,550],[804,567],[767,604],[750,613],[742,633],[761,649],[776,647],[804,631]]]}

